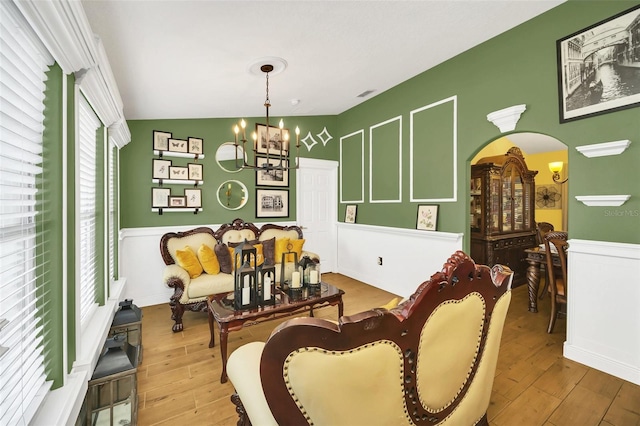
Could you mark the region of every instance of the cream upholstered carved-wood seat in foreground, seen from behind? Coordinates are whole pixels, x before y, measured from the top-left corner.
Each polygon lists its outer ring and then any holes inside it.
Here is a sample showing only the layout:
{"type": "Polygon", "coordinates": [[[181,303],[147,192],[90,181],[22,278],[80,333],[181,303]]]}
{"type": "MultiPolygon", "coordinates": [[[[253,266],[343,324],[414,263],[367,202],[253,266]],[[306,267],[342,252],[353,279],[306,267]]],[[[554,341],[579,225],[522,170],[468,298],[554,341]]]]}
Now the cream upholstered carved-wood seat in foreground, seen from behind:
{"type": "Polygon", "coordinates": [[[512,278],[456,252],[396,308],[282,323],[229,357],[238,424],[487,424],[512,278]]]}

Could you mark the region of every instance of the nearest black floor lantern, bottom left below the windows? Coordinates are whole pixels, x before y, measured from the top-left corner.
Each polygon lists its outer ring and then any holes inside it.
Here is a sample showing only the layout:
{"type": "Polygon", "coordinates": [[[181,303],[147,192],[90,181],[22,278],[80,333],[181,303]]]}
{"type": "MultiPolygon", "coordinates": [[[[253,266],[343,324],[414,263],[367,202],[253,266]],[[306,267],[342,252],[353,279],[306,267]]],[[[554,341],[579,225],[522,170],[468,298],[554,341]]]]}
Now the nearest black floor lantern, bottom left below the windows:
{"type": "Polygon", "coordinates": [[[87,424],[135,425],[139,346],[122,335],[107,339],[87,392],[87,424]]]}

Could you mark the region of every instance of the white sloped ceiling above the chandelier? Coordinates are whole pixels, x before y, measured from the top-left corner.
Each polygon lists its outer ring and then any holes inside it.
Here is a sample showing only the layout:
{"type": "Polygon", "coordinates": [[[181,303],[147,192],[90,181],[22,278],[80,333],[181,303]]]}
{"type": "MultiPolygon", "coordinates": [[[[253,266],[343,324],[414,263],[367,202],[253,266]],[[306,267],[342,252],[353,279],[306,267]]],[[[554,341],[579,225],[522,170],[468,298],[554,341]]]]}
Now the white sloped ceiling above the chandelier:
{"type": "Polygon", "coordinates": [[[339,114],[563,1],[82,3],[131,120],[264,115],[264,57],[272,116],[339,114]]]}

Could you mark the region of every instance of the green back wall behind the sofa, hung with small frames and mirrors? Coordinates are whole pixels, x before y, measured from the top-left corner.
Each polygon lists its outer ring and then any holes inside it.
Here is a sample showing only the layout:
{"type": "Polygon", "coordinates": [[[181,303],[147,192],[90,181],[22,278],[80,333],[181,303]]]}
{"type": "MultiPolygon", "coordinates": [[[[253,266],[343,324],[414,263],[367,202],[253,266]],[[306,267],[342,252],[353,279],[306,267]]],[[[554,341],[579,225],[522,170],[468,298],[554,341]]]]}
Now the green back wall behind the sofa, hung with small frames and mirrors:
{"type": "MultiPolygon", "coordinates": [[[[278,117],[279,120],[279,117],[278,117]]],[[[213,118],[192,120],[131,120],[128,121],[131,131],[131,142],[120,150],[120,226],[121,228],[137,228],[149,226],[174,226],[174,225],[207,225],[230,222],[237,217],[247,221],[272,222],[273,219],[255,218],[255,172],[242,170],[237,173],[225,172],[215,160],[215,151],[224,142],[232,142],[234,139],[233,126],[239,119],[213,118]],[[153,131],[161,130],[172,133],[177,139],[197,137],[204,139],[204,158],[198,160],[203,164],[204,183],[202,189],[203,210],[198,214],[193,213],[158,213],[151,212],[151,188],[158,187],[152,183],[152,159],[159,158],[153,155],[153,131]],[[220,184],[226,180],[239,180],[243,182],[249,192],[247,204],[240,210],[227,210],[223,208],[216,198],[216,191],[220,184]]],[[[249,118],[247,121],[247,137],[249,129],[254,129],[255,123],[264,123],[264,118],[249,118]]],[[[276,121],[276,120],[274,120],[276,121]]],[[[337,135],[335,130],[335,116],[318,117],[284,117],[285,126],[290,129],[292,138],[295,138],[293,129],[300,128],[300,140],[311,132],[313,138],[318,141],[311,150],[300,142],[300,156],[307,158],[322,158],[336,160],[337,135]],[[317,136],[326,127],[333,139],[324,145],[317,136]]],[[[251,130],[253,131],[253,130],[251,130]]],[[[292,148],[295,152],[295,148],[292,148]]],[[[253,158],[251,154],[250,159],[253,158]]],[[[291,159],[292,157],[290,157],[291,159]]],[[[171,158],[173,165],[186,166],[193,159],[171,158]]],[[[172,195],[184,193],[186,185],[167,185],[171,188],[172,195]]],[[[280,189],[280,188],[278,188],[280,189]]],[[[282,188],[284,189],[284,188],[282,188]]],[[[289,173],[289,218],[282,220],[295,220],[296,203],[295,170],[289,173]]],[[[278,219],[280,220],[280,219],[278,219]]]]}

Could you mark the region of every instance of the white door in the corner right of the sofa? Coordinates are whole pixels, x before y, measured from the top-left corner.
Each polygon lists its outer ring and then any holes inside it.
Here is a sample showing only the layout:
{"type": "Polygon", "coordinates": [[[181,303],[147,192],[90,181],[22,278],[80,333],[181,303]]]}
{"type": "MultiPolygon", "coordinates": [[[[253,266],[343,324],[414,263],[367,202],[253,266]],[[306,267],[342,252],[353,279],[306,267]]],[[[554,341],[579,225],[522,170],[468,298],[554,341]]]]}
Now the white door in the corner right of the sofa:
{"type": "Polygon", "coordinates": [[[321,272],[336,271],[338,162],[300,158],[297,217],[304,249],[320,256],[321,272]]]}

